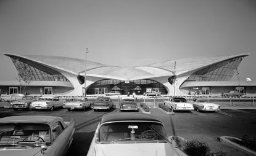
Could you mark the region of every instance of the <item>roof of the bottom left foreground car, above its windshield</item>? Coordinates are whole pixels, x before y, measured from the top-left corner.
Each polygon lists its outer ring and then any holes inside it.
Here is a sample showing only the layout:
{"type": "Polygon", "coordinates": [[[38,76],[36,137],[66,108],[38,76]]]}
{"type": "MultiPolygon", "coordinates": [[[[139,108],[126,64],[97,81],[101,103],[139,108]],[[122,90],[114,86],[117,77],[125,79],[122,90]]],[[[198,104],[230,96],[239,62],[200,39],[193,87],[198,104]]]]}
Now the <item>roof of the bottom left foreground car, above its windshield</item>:
{"type": "Polygon", "coordinates": [[[20,115],[20,116],[9,116],[0,119],[0,123],[11,123],[11,122],[41,122],[49,123],[50,125],[60,121],[63,123],[61,117],[46,116],[46,115],[20,115]]]}

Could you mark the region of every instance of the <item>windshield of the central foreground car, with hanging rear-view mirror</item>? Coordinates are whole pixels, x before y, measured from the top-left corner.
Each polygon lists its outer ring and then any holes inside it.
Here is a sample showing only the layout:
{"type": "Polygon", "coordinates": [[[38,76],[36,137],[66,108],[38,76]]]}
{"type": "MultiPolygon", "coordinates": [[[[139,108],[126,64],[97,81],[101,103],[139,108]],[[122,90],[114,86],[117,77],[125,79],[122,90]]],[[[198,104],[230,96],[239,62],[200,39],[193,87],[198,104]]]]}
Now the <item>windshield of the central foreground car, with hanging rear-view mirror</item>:
{"type": "Polygon", "coordinates": [[[166,141],[165,128],[157,122],[105,123],[97,135],[97,141],[102,144],[166,141]]]}

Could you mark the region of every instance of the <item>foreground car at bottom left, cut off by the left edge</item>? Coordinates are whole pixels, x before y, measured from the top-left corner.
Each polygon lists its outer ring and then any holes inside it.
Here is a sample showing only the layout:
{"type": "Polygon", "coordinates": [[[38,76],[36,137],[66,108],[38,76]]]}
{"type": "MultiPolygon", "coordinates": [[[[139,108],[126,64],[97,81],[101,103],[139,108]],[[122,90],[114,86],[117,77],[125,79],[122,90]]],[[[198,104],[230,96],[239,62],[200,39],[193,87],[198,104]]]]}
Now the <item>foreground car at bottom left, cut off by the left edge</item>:
{"type": "Polygon", "coordinates": [[[75,122],[61,117],[24,115],[0,119],[0,155],[65,155],[75,122]]]}

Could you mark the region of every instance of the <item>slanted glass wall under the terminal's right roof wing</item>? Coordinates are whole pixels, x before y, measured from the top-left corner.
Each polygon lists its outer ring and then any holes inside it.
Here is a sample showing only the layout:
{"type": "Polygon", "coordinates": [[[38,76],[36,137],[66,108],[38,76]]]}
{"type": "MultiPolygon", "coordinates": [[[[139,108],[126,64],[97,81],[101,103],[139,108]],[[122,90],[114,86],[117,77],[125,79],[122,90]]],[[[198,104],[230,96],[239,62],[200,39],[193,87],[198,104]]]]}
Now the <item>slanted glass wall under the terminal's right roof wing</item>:
{"type": "Polygon", "coordinates": [[[221,61],[194,72],[186,81],[228,81],[233,77],[241,61],[242,57],[221,61]]]}

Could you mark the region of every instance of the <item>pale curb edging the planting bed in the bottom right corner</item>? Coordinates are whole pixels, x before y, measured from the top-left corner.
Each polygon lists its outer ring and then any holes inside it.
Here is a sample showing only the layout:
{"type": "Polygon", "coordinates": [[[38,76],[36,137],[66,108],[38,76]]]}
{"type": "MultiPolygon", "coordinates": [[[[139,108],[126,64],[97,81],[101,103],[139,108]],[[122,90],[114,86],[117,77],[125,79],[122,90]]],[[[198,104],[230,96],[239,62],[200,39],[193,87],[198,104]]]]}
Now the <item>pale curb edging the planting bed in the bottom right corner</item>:
{"type": "Polygon", "coordinates": [[[237,140],[241,141],[241,139],[234,138],[232,136],[220,136],[220,142],[223,142],[223,144],[226,144],[229,147],[233,147],[234,149],[239,150],[243,154],[246,154],[246,155],[256,155],[255,151],[250,150],[250,149],[248,149],[248,148],[246,148],[244,146],[241,146],[239,144],[236,144],[235,142],[229,141],[226,138],[233,138],[233,139],[237,139],[237,140]]]}

